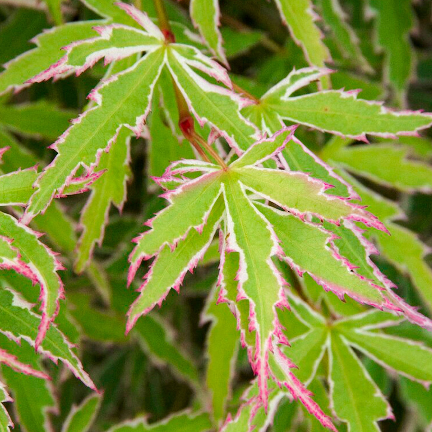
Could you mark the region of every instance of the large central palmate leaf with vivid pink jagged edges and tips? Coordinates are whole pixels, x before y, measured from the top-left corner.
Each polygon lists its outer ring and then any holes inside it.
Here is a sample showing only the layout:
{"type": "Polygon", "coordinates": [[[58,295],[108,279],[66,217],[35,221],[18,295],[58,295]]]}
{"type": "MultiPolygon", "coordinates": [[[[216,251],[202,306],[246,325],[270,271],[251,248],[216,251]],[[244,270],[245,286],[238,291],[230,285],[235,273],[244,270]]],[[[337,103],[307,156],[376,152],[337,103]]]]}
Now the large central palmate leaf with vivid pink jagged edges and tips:
{"type": "Polygon", "coordinates": [[[276,308],[289,306],[283,291],[286,282],[273,259],[285,260],[299,274],[309,273],[341,299],[347,294],[359,302],[406,314],[424,327],[432,328],[432,323],[399,299],[384,276],[371,280],[357,273],[340,254],[334,234],[322,224],[355,229],[353,221],[357,221],[385,230],[375,216],[349,199],[327,194],[329,185],[310,175],[262,166],[281,152],[294,130],[295,126],[285,128],[258,141],[226,168],[183,160],[156,179],[162,187],[177,187],[163,195],[170,205],[146,222],[151,229],[135,239],[129,283],[142,260],[155,259],[128,312],[127,331],[141,315],[156,304],[160,306],[171,288],[179,291],[185,274],[197,266],[219,229],[218,302],[230,302],[237,310],[242,340],[249,345],[249,359],[258,376],[261,403],[267,407],[267,380],[271,377],[298,397],[323,425],[333,428],[292,374],[293,364],[279,348],[287,340],[276,308]],[[188,173],[197,171],[203,174],[187,178],[188,173]],[[238,264],[233,266],[236,255],[238,264]],[[235,268],[235,276],[225,274],[227,265],[235,268]],[[235,293],[228,286],[234,279],[235,293]],[[243,300],[249,304],[246,312],[240,307],[243,300]]]}

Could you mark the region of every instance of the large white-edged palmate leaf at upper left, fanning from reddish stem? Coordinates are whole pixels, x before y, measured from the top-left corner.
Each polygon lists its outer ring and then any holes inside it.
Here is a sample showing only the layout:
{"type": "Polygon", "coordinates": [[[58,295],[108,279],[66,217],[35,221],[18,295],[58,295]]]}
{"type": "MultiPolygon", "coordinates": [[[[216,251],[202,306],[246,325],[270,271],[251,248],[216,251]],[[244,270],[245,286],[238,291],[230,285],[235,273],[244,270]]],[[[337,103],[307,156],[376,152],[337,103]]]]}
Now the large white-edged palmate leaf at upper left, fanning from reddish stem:
{"type": "Polygon", "coordinates": [[[143,132],[153,88],[165,64],[201,125],[209,121],[237,148],[247,148],[256,138],[256,128],[239,113],[240,107],[249,102],[229,89],[209,83],[192,70],[231,87],[225,69],[193,46],[165,44],[162,32],[148,16],[133,6],[123,3],[119,6],[145,31],[122,24],[96,27],[99,37],[68,45],[64,57],[31,80],[39,82],[72,70],[81,73],[102,57],[109,63],[146,51],[133,66],[103,80],[89,95],[96,106],[74,121],[51,146],[58,154],[35,183],[36,191],[22,219],[25,223],[43,212],[55,195],[63,194],[80,165],[87,168],[88,174],[92,173],[102,150],[115,143],[121,126],[129,127],[137,135],[143,132]],[[224,105],[223,110],[220,104],[224,105]]]}

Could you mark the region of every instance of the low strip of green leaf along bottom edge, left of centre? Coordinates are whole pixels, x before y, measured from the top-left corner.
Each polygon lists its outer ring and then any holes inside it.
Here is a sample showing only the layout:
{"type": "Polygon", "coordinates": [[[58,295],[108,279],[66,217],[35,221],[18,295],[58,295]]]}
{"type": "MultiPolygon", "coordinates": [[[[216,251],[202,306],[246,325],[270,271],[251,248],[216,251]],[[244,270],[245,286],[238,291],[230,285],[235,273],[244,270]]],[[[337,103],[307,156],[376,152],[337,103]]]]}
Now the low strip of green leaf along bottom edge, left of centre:
{"type": "Polygon", "coordinates": [[[204,432],[210,429],[212,424],[208,414],[177,413],[151,425],[143,417],[126,421],[107,432],[204,432]]]}

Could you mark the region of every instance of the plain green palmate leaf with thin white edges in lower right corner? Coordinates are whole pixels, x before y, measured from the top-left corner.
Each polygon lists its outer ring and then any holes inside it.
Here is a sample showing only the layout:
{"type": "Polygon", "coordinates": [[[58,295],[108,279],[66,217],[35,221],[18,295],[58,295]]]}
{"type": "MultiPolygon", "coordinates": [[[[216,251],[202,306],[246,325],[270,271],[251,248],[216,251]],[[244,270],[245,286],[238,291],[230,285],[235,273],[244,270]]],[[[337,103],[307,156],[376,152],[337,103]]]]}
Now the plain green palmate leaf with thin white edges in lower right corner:
{"type": "Polygon", "coordinates": [[[379,431],[378,420],[393,418],[391,408],[353,348],[402,375],[423,380],[423,384],[430,380],[428,362],[432,351],[429,348],[412,340],[379,333],[379,329],[395,326],[403,318],[371,310],[332,321],[313,311],[295,295],[289,295],[289,302],[292,312],[309,330],[292,338],[292,346],[283,351],[299,367],[295,374],[308,381],[316,374],[324,352],[328,352],[330,405],[335,415],[348,423],[349,430],[379,431]],[[323,336],[315,338],[317,334],[323,336]],[[305,355],[307,340],[308,355],[305,355]],[[394,356],[395,352],[403,354],[394,356]],[[422,362],[419,368],[415,366],[414,359],[417,358],[422,362]]]}

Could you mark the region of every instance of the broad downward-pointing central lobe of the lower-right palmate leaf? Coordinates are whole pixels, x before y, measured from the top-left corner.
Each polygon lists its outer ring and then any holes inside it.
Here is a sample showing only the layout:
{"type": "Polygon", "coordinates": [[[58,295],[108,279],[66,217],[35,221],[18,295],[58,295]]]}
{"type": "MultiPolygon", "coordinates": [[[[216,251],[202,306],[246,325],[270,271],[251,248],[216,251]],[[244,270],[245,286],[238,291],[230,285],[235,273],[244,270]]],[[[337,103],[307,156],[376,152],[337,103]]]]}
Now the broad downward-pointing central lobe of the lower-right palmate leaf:
{"type": "Polygon", "coordinates": [[[332,334],[330,347],[334,412],[351,432],[379,432],[377,421],[393,417],[390,406],[343,336],[332,334]]]}

